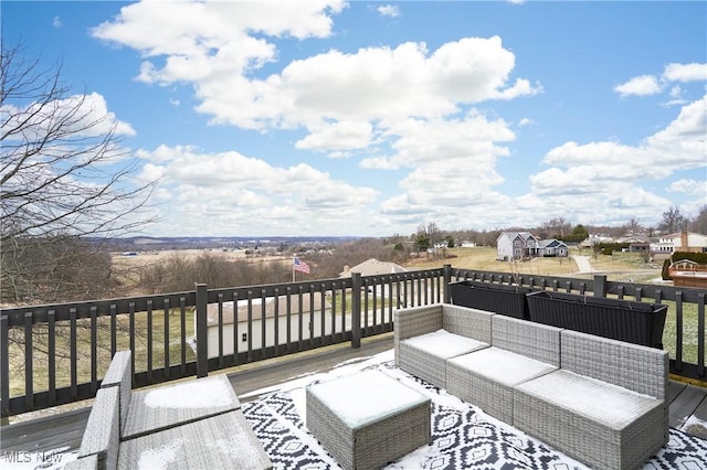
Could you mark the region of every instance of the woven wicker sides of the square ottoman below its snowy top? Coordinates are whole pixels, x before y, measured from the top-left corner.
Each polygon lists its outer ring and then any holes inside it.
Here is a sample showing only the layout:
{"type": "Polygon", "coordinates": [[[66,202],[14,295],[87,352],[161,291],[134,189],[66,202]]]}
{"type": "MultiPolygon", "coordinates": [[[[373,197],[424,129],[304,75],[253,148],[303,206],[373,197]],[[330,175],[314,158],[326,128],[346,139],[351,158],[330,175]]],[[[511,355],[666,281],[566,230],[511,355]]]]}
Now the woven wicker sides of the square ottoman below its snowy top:
{"type": "Polygon", "coordinates": [[[379,469],[430,444],[430,400],[391,410],[356,428],[348,427],[309,389],[306,402],[307,428],[345,469],[379,469]]]}

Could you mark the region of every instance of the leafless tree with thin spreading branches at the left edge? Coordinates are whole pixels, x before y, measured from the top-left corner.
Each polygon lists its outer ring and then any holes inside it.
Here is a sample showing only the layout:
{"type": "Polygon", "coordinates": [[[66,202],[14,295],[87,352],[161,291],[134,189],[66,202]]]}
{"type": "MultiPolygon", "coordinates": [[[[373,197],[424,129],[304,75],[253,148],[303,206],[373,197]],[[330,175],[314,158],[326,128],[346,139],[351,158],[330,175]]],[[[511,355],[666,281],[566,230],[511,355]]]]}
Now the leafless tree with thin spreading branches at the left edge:
{"type": "Polygon", "coordinates": [[[103,277],[76,266],[109,274],[101,241],[150,220],[154,182],[135,183],[137,159],[122,146],[131,129],[98,95],[72,95],[61,66],[23,54],[3,45],[0,56],[2,301],[96,298],[103,277]]]}

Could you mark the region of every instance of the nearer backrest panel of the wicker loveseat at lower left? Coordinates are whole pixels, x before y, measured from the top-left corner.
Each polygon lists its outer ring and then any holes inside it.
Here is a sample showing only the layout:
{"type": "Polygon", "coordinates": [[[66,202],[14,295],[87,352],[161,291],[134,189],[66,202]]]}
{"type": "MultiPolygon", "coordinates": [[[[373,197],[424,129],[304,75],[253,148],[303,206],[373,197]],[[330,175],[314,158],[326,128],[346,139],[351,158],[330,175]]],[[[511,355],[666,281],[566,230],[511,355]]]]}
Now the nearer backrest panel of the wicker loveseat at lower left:
{"type": "Polygon", "coordinates": [[[118,410],[118,388],[98,389],[81,440],[78,457],[95,455],[97,457],[97,468],[101,470],[117,468],[118,446],[120,444],[118,410]]]}

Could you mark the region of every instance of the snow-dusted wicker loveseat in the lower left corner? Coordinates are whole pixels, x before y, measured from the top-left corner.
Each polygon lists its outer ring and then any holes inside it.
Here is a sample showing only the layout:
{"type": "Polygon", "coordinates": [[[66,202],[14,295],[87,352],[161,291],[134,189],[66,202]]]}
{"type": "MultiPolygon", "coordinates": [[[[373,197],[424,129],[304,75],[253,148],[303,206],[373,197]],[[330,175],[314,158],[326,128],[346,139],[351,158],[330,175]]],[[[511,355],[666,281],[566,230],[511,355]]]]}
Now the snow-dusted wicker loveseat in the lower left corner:
{"type": "Polygon", "coordinates": [[[131,380],[131,353],[116,353],[65,468],[272,468],[225,375],[135,392],[131,380]]]}

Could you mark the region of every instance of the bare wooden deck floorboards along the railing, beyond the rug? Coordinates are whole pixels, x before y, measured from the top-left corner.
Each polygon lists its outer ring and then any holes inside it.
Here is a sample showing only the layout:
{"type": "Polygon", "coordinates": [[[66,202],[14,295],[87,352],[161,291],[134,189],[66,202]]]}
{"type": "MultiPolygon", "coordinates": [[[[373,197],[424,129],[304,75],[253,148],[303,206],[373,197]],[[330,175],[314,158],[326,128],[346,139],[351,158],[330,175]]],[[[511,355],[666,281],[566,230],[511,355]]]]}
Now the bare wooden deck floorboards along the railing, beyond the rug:
{"type": "MultiPolygon", "coordinates": [[[[256,399],[255,392],[276,387],[288,380],[329,371],[341,363],[370,357],[393,348],[392,333],[363,339],[361,349],[348,344],[320,348],[305,353],[262,361],[224,371],[241,402],[256,399]]],[[[707,387],[671,381],[669,425],[707,439],[707,387]],[[699,423],[703,425],[700,426],[699,423]]],[[[88,406],[49,414],[0,428],[0,453],[44,452],[54,449],[77,449],[88,419],[88,406]]]]}

